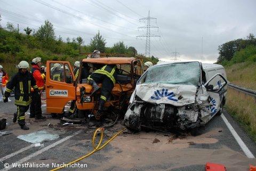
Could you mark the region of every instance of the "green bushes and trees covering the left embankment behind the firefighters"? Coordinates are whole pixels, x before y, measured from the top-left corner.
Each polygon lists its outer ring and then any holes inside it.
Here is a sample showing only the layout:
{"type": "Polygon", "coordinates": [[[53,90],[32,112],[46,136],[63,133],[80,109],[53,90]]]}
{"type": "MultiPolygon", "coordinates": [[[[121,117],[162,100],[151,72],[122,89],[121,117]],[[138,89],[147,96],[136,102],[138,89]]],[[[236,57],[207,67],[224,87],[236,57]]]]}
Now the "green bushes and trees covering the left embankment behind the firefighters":
{"type": "MultiPolygon", "coordinates": [[[[1,15],[0,15],[1,21],[1,15]]],[[[101,53],[109,54],[109,56],[140,56],[143,62],[151,61],[156,63],[157,58],[151,56],[146,58],[142,54],[138,54],[137,50],[119,41],[112,47],[106,47],[106,39],[99,31],[90,39],[88,45],[83,45],[84,39],[81,36],[67,38],[56,37],[54,26],[50,21],[45,21],[38,30],[25,28],[18,30],[12,23],[7,22],[7,25],[1,26],[0,22],[0,64],[3,65],[7,73],[12,76],[17,69],[15,64],[19,61],[30,61],[36,56],[41,57],[43,63],[47,60],[70,61],[74,63],[83,58],[87,58],[87,54],[94,50],[99,50],[101,53]]]]}

